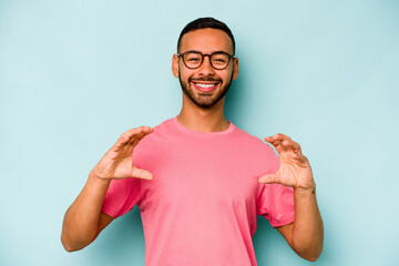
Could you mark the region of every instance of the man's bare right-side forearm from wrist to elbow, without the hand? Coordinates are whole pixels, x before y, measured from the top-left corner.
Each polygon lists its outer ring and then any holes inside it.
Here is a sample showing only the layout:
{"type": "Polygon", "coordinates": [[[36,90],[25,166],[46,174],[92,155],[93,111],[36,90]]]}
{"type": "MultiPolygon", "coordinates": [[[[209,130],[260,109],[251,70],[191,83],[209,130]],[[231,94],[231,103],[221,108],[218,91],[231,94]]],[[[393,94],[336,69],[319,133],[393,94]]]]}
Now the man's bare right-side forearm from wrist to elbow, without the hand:
{"type": "Polygon", "coordinates": [[[303,258],[316,260],[323,250],[324,228],[314,190],[294,188],[295,221],[291,247],[303,258]]]}

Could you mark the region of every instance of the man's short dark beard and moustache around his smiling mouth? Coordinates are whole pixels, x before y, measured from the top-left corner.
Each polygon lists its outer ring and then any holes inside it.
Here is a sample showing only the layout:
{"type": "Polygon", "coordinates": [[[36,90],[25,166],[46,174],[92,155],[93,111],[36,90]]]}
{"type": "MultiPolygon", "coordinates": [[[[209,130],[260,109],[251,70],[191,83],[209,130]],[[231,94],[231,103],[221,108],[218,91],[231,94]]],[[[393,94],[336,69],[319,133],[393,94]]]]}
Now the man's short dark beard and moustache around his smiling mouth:
{"type": "Polygon", "coordinates": [[[213,78],[200,78],[200,79],[188,79],[188,83],[184,82],[182,80],[182,76],[178,75],[178,81],[181,83],[182,86],[182,91],[184,92],[184,94],[198,108],[202,109],[209,109],[212,106],[214,106],[216,103],[218,103],[227,93],[229,86],[232,85],[232,81],[233,81],[233,73],[231,75],[229,81],[226,84],[223,84],[223,81],[221,79],[213,79],[213,78]],[[192,86],[191,86],[191,82],[195,81],[215,81],[218,82],[218,84],[221,85],[221,89],[217,92],[198,92],[195,93],[192,86]],[[214,94],[216,93],[216,94],[214,94]]]}

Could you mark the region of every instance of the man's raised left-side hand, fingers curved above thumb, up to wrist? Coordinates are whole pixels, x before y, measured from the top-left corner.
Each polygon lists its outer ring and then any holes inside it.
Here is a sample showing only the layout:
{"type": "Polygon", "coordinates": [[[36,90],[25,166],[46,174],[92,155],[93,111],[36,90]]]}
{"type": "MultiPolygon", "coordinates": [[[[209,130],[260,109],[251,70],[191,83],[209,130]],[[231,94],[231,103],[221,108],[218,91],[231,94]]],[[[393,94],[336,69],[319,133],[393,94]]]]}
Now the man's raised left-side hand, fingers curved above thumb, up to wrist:
{"type": "Polygon", "coordinates": [[[134,147],[145,135],[152,132],[153,129],[150,126],[141,126],[123,133],[95,165],[92,173],[102,180],[120,180],[126,177],[152,180],[153,175],[150,172],[137,168],[132,163],[134,147]]]}

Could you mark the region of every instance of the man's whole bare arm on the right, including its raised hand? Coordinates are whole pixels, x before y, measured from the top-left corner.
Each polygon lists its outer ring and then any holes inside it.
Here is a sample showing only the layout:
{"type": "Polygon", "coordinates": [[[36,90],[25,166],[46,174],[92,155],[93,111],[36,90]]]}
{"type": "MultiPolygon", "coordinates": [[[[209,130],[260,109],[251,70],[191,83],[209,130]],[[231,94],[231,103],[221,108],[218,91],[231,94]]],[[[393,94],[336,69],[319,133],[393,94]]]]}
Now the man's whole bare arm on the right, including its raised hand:
{"type": "Polygon", "coordinates": [[[301,154],[299,144],[286,135],[277,134],[265,140],[279,153],[280,167],[275,174],[262,176],[259,182],[294,187],[294,223],[277,229],[300,257],[315,262],[323,250],[324,228],[309,161],[301,154]]]}

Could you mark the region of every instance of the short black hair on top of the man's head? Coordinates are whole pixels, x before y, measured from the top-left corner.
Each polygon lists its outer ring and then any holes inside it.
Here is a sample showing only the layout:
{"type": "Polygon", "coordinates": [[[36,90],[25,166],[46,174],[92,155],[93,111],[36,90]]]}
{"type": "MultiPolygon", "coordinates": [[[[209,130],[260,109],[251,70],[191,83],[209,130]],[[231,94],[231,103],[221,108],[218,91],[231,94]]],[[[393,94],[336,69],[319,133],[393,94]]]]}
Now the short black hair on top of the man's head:
{"type": "Polygon", "coordinates": [[[228,27],[225,23],[223,23],[222,21],[216,20],[214,18],[200,18],[200,19],[196,19],[196,20],[190,22],[188,24],[186,24],[186,27],[184,27],[184,29],[182,30],[182,32],[178,37],[177,52],[180,51],[181,41],[185,33],[187,33],[190,31],[194,31],[194,30],[208,29],[208,28],[223,30],[224,32],[227,33],[227,35],[232,39],[232,42],[233,42],[233,55],[234,55],[235,41],[234,41],[234,37],[233,37],[231,29],[228,29],[228,27]]]}

